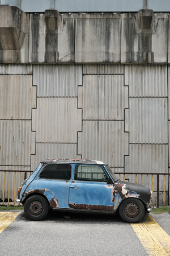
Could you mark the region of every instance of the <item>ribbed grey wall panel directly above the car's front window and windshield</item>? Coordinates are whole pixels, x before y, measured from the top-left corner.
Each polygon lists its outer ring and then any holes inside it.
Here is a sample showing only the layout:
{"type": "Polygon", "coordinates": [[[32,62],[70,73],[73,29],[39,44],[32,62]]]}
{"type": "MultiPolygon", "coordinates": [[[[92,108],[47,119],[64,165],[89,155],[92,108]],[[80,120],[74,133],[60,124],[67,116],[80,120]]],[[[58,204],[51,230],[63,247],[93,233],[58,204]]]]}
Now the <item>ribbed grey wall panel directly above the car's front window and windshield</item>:
{"type": "Polygon", "coordinates": [[[102,160],[112,167],[124,167],[128,143],[123,121],[83,121],[83,131],[78,133],[78,154],[84,159],[102,160]]]}

